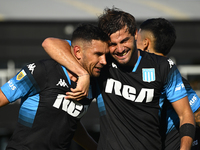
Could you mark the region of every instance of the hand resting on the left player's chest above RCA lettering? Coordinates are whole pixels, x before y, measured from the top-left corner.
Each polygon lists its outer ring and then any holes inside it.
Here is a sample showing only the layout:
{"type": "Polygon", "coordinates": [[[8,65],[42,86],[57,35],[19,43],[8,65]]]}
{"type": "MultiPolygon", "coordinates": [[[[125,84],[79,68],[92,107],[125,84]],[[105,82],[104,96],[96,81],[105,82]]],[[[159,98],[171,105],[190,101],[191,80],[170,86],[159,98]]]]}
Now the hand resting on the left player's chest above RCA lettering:
{"type": "Polygon", "coordinates": [[[66,93],[66,99],[81,100],[88,95],[90,87],[90,76],[89,74],[84,74],[78,77],[77,86],[75,89],[71,88],[71,92],[66,93]]]}

